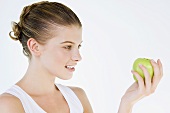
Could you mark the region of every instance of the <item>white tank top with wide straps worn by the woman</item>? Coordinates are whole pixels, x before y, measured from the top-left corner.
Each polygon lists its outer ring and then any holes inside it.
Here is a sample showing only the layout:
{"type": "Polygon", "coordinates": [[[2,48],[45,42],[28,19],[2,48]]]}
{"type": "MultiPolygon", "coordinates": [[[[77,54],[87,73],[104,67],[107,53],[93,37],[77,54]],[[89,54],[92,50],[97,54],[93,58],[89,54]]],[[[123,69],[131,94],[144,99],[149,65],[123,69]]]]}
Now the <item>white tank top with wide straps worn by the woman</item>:
{"type": "MultiPolygon", "coordinates": [[[[83,106],[76,94],[69,87],[61,84],[56,84],[56,86],[67,101],[70,113],[83,113],[83,106]]],[[[17,85],[13,85],[5,93],[9,93],[19,98],[25,113],[47,113],[31,98],[31,96],[17,85]]]]}

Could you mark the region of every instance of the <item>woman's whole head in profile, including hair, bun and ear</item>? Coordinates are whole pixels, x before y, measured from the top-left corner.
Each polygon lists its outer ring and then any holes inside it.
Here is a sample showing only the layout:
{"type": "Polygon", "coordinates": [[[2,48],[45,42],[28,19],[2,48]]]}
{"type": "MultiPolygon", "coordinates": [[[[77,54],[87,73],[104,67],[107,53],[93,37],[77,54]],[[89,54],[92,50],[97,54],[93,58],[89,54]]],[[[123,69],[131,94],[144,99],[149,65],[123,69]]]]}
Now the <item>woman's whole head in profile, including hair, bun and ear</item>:
{"type": "Polygon", "coordinates": [[[82,24],[69,7],[48,1],[28,5],[12,29],[10,37],[21,42],[34,69],[61,79],[72,77],[81,60],[82,24]]]}

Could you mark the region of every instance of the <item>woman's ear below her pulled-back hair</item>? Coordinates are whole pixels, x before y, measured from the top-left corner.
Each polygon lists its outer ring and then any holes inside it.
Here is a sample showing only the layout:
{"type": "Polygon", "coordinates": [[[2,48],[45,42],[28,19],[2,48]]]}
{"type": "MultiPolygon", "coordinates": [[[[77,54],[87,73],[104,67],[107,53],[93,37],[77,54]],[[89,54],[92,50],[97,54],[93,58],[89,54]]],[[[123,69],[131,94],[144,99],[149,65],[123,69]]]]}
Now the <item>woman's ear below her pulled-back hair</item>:
{"type": "Polygon", "coordinates": [[[34,38],[28,39],[27,46],[32,55],[39,56],[41,54],[40,44],[34,38]]]}

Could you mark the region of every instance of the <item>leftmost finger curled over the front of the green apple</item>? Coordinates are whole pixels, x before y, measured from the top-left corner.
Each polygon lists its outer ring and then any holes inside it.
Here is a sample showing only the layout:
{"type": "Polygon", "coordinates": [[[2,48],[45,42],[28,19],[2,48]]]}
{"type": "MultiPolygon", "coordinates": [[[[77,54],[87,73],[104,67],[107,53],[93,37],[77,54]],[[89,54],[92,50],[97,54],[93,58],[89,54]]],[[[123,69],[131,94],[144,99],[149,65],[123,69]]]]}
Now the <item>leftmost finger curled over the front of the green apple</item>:
{"type": "Polygon", "coordinates": [[[131,72],[132,72],[132,74],[133,74],[133,75],[136,77],[136,79],[137,79],[137,82],[138,82],[138,85],[139,85],[139,90],[143,91],[144,88],[145,88],[143,78],[142,78],[137,72],[135,72],[135,71],[133,71],[133,70],[132,70],[131,72]]]}

